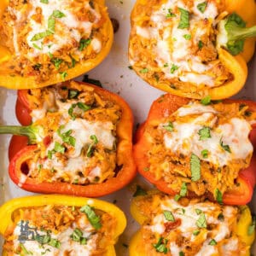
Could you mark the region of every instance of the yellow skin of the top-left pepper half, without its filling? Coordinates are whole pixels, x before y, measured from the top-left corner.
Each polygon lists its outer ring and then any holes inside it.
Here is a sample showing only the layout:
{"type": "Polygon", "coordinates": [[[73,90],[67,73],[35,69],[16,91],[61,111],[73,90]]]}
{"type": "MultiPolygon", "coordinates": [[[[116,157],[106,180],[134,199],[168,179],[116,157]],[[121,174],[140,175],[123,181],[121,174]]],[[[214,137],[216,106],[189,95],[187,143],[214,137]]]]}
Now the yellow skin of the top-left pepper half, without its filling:
{"type": "MultiPolygon", "coordinates": [[[[112,22],[108,17],[107,8],[105,6],[104,0],[95,0],[95,2],[100,6],[102,9],[102,15],[104,19],[106,20],[103,25],[103,31],[108,34],[108,42],[104,46],[104,48],[100,51],[98,55],[94,59],[89,59],[87,61],[77,62],[75,67],[69,68],[67,73],[67,78],[63,79],[61,78],[60,73],[55,73],[50,76],[50,79],[38,83],[35,79],[35,77],[22,77],[18,74],[15,76],[11,76],[9,74],[6,74],[3,70],[1,70],[0,66],[0,86],[9,88],[9,89],[32,89],[32,88],[38,88],[38,87],[44,87],[48,86],[50,84],[57,84],[60,82],[63,82],[65,80],[73,79],[75,77],[79,77],[79,75],[86,73],[90,71],[92,68],[99,65],[108,55],[112,44],[113,44],[113,26],[112,22]]],[[[6,7],[9,4],[9,0],[1,0],[0,1],[0,23],[3,16],[3,11],[6,9],[6,7]]],[[[0,65],[3,63],[3,61],[9,60],[12,55],[9,52],[9,49],[1,45],[0,40],[0,65]]]]}

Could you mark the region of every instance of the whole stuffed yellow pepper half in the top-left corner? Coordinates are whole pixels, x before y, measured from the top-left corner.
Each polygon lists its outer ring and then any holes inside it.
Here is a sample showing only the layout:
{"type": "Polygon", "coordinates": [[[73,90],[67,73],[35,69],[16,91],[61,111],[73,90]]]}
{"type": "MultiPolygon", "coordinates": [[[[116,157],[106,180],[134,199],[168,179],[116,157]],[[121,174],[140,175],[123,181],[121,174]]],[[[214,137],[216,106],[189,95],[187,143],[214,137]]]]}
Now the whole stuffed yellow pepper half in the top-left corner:
{"type": "Polygon", "coordinates": [[[104,0],[1,0],[0,86],[30,89],[78,77],[113,43],[104,0]]]}

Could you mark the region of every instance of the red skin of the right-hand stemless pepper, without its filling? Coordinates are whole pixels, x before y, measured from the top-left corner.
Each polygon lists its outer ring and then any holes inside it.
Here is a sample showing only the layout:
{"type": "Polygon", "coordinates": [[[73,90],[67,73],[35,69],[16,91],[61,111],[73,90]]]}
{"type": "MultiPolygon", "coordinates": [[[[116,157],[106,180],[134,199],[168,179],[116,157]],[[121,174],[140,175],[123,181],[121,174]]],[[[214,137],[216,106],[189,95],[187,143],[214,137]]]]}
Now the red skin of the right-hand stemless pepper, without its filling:
{"type": "MultiPolygon", "coordinates": [[[[151,145],[147,139],[143,136],[146,125],[154,125],[155,122],[159,123],[160,119],[164,119],[166,115],[170,115],[177,111],[178,108],[187,104],[190,100],[181,96],[173,96],[172,94],[166,94],[160,96],[153,102],[149,113],[148,119],[137,130],[136,143],[133,147],[133,156],[137,165],[137,171],[150,183],[153,183],[160,191],[166,194],[175,195],[175,191],[168,187],[168,183],[163,178],[156,180],[154,174],[147,172],[148,163],[148,148],[151,145]],[[146,169],[145,169],[146,168],[146,169]],[[146,170],[146,171],[145,171],[146,170]]],[[[243,101],[243,100],[224,100],[223,102],[238,102],[246,104],[251,111],[256,111],[256,102],[243,101]]],[[[256,148],[256,126],[253,125],[253,130],[250,132],[249,138],[253,143],[253,148],[256,148]]],[[[244,205],[251,201],[253,196],[253,188],[256,183],[256,154],[253,154],[250,166],[239,172],[237,178],[236,190],[232,189],[224,193],[223,201],[227,205],[244,205]]]]}

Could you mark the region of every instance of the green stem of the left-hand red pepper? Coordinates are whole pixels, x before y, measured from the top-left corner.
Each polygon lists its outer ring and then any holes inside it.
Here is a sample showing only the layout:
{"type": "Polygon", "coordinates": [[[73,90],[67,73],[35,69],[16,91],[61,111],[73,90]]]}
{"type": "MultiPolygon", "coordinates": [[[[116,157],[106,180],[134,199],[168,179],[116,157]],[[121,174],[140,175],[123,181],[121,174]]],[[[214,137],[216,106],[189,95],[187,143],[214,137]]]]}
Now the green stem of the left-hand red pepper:
{"type": "Polygon", "coordinates": [[[41,126],[18,126],[18,125],[1,125],[0,134],[13,134],[28,137],[30,144],[35,144],[42,139],[43,128],[41,126]]]}

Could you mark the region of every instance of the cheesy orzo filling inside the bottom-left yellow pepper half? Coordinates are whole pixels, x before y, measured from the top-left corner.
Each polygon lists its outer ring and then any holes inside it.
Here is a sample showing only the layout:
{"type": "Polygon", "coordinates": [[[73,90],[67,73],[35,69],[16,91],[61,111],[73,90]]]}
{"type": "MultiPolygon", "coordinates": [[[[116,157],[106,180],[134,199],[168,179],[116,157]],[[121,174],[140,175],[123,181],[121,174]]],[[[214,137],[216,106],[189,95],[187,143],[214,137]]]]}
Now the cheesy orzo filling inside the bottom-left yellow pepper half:
{"type": "Polygon", "coordinates": [[[105,255],[114,243],[116,219],[84,207],[21,208],[4,235],[7,255],[105,255]]]}

